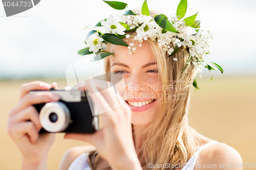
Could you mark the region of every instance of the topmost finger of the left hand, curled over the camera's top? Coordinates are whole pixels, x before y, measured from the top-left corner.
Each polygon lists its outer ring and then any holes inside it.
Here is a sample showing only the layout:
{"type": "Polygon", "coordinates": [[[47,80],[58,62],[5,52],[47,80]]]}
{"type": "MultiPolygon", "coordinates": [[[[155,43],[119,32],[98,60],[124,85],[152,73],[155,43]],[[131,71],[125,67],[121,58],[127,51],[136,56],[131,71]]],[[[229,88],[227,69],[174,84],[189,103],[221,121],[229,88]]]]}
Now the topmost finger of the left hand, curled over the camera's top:
{"type": "Polygon", "coordinates": [[[31,90],[49,90],[51,85],[41,81],[34,81],[23,84],[20,91],[19,100],[23,99],[24,96],[31,90]]]}

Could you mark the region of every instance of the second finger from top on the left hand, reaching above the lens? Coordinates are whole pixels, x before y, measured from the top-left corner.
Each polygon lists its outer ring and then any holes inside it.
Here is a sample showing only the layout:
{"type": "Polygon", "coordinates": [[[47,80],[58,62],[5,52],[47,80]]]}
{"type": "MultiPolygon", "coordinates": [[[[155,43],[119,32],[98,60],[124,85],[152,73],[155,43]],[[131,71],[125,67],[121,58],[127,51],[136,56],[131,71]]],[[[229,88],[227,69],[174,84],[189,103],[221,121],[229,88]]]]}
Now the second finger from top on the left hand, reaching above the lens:
{"type": "Polygon", "coordinates": [[[10,111],[9,117],[31,105],[48,103],[59,100],[60,96],[58,96],[57,94],[53,94],[51,92],[37,92],[26,94],[24,98],[21,101],[19,101],[18,105],[10,111]]]}

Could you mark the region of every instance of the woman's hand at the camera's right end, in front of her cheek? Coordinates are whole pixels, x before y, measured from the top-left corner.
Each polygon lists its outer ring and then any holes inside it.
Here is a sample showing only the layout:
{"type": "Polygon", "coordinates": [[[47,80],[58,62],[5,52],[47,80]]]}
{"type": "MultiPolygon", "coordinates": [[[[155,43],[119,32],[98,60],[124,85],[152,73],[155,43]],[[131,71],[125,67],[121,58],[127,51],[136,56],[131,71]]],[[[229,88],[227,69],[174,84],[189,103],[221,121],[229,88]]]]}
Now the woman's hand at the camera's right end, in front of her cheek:
{"type": "Polygon", "coordinates": [[[108,82],[92,78],[84,82],[85,90],[90,92],[93,103],[101,113],[103,128],[94,134],[69,133],[65,138],[93,144],[113,169],[142,169],[133,142],[132,111],[125,102],[115,107],[117,98],[119,101],[124,100],[118,92],[115,94],[105,89],[106,83],[108,82]]]}

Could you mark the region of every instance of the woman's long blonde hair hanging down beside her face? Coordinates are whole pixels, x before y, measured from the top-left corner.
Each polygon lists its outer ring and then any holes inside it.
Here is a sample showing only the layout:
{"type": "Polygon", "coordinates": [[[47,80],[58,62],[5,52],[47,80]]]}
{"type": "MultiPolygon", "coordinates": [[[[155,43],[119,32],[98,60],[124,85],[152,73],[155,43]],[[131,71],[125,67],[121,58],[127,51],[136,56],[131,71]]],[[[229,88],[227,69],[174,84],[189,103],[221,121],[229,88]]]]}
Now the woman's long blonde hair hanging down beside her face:
{"type": "MultiPolygon", "coordinates": [[[[181,46],[174,56],[168,57],[158,42],[148,38],[146,45],[157,62],[161,80],[161,94],[164,98],[152,119],[154,121],[142,134],[144,143],[137,155],[141,165],[148,165],[149,163],[159,165],[180,163],[182,165],[190,159],[198,145],[201,144],[194,136],[195,130],[188,125],[188,105],[191,87],[196,76],[196,68],[189,62],[183,70],[189,57],[185,46],[181,46]],[[173,58],[178,60],[174,61],[173,58]]],[[[108,44],[106,51],[109,51],[111,46],[112,44],[108,44]]],[[[112,56],[104,58],[106,72],[111,72],[110,57],[112,56]]],[[[89,154],[88,162],[92,169],[96,169],[99,160],[100,156],[96,151],[89,154]]],[[[166,168],[147,166],[145,169],[166,168]]]]}

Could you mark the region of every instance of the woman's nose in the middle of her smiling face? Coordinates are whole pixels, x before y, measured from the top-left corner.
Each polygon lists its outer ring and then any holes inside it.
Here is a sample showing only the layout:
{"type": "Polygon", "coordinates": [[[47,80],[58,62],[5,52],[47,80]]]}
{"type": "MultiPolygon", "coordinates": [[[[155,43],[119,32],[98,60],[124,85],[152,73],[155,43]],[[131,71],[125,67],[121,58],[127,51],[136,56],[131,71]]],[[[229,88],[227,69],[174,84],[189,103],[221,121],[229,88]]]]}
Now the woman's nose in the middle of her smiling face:
{"type": "Polygon", "coordinates": [[[133,94],[137,94],[145,89],[145,85],[142,83],[142,78],[139,75],[133,75],[127,86],[127,91],[133,94]]]}

